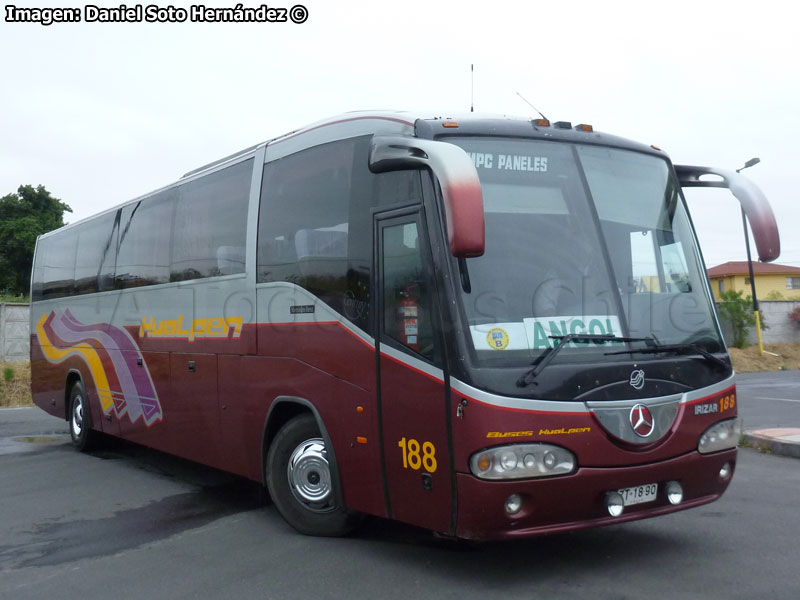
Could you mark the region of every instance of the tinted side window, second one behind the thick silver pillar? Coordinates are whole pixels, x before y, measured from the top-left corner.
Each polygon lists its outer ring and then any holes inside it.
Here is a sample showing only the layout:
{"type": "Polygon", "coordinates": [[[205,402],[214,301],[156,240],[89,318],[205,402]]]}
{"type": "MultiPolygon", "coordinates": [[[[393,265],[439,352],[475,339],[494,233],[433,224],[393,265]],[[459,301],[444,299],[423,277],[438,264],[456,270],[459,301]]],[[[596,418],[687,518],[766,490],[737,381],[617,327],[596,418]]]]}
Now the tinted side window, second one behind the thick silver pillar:
{"type": "Polygon", "coordinates": [[[124,206],[121,211],[116,287],[169,281],[175,189],[124,206]]]}

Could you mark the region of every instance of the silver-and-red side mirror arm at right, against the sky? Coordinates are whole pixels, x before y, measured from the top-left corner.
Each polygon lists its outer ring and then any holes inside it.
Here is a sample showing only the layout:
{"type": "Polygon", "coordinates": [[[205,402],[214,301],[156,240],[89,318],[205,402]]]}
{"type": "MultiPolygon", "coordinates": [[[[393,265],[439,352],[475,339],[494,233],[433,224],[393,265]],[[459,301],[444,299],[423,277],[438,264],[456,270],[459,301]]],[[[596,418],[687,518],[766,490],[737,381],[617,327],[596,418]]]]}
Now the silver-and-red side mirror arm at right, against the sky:
{"type": "Polygon", "coordinates": [[[781,240],[778,224],[769,205],[767,197],[759,187],[736,171],[715,169],[712,167],[691,167],[675,165],[675,172],[682,187],[719,187],[728,188],[742,205],[753,238],[756,241],[758,258],[763,262],[771,262],[781,254],[781,240]],[[702,175],[716,175],[721,180],[703,180],[702,175]]]}

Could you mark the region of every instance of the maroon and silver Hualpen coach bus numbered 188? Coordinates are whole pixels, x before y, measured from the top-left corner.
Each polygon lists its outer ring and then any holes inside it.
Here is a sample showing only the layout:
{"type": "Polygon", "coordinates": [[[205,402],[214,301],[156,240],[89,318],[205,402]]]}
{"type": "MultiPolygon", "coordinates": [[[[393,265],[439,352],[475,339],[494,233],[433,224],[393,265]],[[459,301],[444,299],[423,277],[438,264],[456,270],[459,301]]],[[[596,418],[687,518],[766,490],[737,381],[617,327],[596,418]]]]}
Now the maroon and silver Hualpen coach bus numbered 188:
{"type": "Polygon", "coordinates": [[[734,373],[683,187],[735,172],[590,125],[349,113],[37,241],[35,403],[260,482],[305,534],[455,538],[718,499],[734,373]]]}

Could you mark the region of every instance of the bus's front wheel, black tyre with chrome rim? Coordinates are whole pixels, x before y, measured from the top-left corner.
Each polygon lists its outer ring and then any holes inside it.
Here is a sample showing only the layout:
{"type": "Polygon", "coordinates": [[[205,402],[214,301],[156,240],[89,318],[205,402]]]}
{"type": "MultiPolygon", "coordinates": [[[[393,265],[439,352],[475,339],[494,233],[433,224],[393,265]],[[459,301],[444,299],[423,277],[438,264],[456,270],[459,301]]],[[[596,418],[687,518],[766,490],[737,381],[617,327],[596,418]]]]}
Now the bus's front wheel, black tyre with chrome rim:
{"type": "Polygon", "coordinates": [[[267,453],[267,487],[289,525],[306,535],[341,536],[359,521],[341,506],[339,478],[314,417],[295,417],[284,425],[267,453]],[[290,467],[291,462],[291,467],[290,467]]]}

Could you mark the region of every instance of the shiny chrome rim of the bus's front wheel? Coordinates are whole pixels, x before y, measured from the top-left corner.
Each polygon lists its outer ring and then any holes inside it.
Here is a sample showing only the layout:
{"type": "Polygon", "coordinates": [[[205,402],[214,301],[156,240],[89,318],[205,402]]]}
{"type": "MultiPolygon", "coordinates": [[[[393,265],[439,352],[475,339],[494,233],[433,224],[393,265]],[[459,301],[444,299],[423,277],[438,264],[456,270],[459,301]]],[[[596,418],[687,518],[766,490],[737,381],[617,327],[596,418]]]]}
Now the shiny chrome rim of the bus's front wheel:
{"type": "Polygon", "coordinates": [[[287,474],[292,494],[308,510],[329,512],[336,508],[325,442],[320,438],[306,440],[295,448],[287,474]]]}

